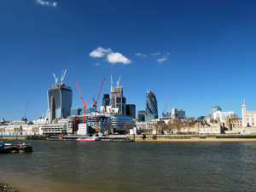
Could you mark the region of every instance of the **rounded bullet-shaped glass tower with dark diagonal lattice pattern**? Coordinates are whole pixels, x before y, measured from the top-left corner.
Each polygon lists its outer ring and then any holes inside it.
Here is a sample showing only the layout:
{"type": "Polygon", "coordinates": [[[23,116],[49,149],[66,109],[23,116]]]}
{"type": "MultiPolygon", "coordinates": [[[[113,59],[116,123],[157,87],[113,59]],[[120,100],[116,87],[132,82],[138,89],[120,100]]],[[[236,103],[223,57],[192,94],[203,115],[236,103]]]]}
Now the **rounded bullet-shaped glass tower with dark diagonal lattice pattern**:
{"type": "Polygon", "coordinates": [[[154,119],[158,119],[158,109],[157,109],[157,100],[154,96],[153,90],[149,90],[146,94],[146,106],[145,106],[145,112],[146,112],[146,120],[152,119],[154,116],[154,119]]]}

